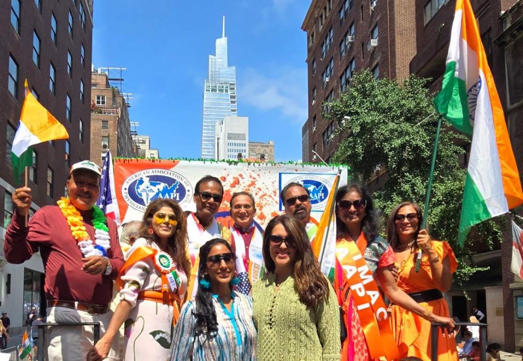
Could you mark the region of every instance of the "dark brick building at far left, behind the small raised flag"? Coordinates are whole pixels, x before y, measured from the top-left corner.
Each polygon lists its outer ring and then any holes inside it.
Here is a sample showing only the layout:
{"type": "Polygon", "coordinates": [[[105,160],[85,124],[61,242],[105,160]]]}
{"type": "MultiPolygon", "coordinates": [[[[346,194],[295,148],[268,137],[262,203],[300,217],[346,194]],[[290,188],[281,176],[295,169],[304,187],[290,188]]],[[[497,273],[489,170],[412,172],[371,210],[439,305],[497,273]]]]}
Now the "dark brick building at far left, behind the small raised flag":
{"type": "Polygon", "coordinates": [[[6,264],[3,255],[15,190],[10,152],[24,102],[24,80],[70,137],[33,148],[29,187],[35,211],[64,195],[70,164],[89,156],[92,14],[92,0],[0,2],[0,138],[5,144],[0,148],[0,302],[12,326],[21,325],[31,304],[45,312],[40,255],[21,265],[6,264]]]}

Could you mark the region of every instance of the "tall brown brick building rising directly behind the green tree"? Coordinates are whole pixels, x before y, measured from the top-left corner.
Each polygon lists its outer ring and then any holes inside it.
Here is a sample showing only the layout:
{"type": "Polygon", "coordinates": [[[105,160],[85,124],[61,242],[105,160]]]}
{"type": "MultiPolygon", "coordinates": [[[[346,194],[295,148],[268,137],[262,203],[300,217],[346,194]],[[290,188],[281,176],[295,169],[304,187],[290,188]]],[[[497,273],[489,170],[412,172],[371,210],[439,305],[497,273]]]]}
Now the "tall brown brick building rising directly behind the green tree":
{"type": "MultiPolygon", "coordinates": [[[[401,80],[416,52],[414,0],[313,0],[302,30],[307,33],[309,118],[302,128],[302,159],[312,151],[327,162],[339,139],[322,118],[324,101],[339,97],[351,76],[368,68],[376,77],[401,80]]],[[[319,160],[314,160],[319,161],[319,160]]]]}

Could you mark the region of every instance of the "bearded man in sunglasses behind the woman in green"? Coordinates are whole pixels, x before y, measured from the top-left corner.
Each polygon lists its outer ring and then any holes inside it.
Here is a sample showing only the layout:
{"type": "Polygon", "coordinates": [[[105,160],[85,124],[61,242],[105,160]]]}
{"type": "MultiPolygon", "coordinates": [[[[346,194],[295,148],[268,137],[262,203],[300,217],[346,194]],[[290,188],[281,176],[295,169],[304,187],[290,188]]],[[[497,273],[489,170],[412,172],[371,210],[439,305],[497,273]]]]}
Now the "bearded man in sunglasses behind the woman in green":
{"type": "Polygon", "coordinates": [[[285,213],[292,215],[305,225],[309,240],[313,240],[318,229],[318,222],[311,217],[311,197],[309,189],[301,183],[291,182],[280,193],[285,213]]]}

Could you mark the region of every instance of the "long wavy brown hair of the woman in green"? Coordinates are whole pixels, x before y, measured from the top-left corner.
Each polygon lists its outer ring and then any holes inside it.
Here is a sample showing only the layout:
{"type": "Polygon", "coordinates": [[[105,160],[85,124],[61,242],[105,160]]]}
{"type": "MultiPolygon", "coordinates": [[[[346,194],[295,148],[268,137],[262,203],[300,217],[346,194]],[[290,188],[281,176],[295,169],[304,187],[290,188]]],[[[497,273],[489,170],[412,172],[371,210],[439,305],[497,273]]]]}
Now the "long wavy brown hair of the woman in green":
{"type": "Polygon", "coordinates": [[[311,308],[328,298],[329,287],[327,279],[320,270],[320,264],[312,253],[309,236],[305,226],[291,215],[282,215],[272,218],[267,224],[263,237],[263,256],[265,268],[268,272],[273,272],[276,265],[269,252],[269,238],[272,230],[277,224],[283,225],[287,233],[292,237],[296,246],[296,256],[294,260],[294,289],[300,296],[301,303],[307,308],[311,308]]]}

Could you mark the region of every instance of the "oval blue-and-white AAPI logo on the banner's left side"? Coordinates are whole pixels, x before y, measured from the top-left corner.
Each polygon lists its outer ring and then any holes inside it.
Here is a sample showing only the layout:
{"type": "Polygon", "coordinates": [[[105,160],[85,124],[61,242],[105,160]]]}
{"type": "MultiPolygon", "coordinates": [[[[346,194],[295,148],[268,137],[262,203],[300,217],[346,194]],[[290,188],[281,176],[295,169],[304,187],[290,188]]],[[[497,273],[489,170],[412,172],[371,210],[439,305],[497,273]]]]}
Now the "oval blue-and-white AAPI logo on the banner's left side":
{"type": "Polygon", "coordinates": [[[180,207],[192,198],[192,186],[182,175],[167,169],[146,169],[134,173],[122,185],[122,196],[127,204],[141,212],[155,199],[168,198],[180,207]]]}

